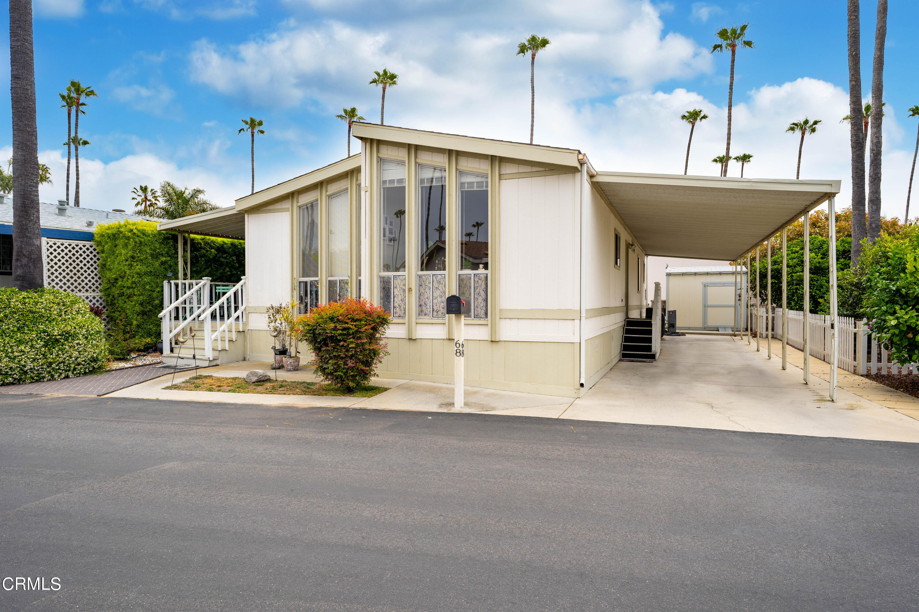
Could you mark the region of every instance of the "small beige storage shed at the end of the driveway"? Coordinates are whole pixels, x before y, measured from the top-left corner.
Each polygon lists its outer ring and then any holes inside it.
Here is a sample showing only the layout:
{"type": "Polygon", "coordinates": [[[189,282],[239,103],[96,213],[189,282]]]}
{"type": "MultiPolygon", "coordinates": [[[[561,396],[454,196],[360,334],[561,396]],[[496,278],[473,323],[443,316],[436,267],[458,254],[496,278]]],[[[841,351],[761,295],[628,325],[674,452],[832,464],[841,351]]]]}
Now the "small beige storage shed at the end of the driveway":
{"type": "Polygon", "coordinates": [[[667,310],[676,311],[677,329],[746,329],[744,266],[667,268],[666,276],[667,310]]]}

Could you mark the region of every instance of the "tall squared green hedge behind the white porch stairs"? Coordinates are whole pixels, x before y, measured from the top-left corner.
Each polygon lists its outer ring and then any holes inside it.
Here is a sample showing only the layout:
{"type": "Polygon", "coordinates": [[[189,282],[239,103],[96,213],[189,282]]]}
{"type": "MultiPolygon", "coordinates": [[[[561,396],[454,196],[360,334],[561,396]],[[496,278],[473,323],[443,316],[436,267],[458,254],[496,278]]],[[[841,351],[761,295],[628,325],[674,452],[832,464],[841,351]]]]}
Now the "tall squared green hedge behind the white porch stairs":
{"type": "MultiPolygon", "coordinates": [[[[119,221],[96,228],[102,296],[108,320],[122,315],[136,338],[159,338],[166,274],[177,278],[176,234],[157,231],[151,221],[119,221]]],[[[191,239],[191,277],[238,283],[245,273],[243,240],[191,239]]]]}

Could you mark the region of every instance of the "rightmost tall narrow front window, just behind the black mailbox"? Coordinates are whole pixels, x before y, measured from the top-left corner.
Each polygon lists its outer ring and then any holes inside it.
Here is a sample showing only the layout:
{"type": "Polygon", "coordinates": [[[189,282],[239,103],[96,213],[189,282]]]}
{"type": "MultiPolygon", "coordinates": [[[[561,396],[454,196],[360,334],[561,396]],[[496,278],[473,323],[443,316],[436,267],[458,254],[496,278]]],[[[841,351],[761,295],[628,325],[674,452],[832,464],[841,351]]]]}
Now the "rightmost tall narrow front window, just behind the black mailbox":
{"type": "Polygon", "coordinates": [[[488,175],[459,171],[459,297],[488,318],[488,175]]]}

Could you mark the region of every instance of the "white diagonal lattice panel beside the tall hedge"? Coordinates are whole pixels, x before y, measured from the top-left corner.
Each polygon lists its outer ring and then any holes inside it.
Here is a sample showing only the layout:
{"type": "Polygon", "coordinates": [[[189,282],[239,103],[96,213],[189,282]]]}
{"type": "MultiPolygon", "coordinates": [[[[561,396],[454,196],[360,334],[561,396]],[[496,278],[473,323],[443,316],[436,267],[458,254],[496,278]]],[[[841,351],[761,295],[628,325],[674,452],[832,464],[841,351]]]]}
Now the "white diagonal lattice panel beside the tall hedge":
{"type": "Polygon", "coordinates": [[[96,245],[84,240],[41,239],[45,286],[79,295],[90,306],[105,308],[96,245]]]}

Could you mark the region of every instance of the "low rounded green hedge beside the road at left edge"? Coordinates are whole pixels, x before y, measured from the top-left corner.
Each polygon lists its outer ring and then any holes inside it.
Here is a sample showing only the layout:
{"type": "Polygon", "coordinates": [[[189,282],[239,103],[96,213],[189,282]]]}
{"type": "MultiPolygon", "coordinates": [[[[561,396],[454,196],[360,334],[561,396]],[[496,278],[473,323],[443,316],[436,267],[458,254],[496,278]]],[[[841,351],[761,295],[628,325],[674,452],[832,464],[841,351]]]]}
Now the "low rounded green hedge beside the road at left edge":
{"type": "Polygon", "coordinates": [[[59,289],[0,289],[0,384],[82,376],[106,363],[99,317],[59,289]]]}

